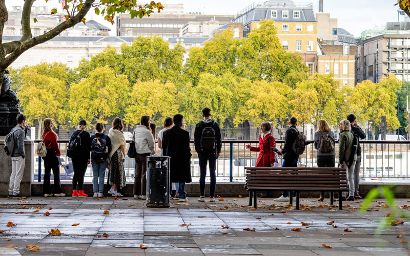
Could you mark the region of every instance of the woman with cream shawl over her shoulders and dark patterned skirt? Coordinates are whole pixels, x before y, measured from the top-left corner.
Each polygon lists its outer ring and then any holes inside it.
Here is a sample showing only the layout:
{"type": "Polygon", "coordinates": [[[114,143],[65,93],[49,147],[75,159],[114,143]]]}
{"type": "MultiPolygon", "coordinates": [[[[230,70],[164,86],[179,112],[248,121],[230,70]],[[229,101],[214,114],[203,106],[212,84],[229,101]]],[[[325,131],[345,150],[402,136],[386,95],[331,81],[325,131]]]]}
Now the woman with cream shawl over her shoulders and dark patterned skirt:
{"type": "Polygon", "coordinates": [[[127,184],[124,170],[125,161],[125,137],[122,130],[124,129],[124,124],[119,117],[114,118],[112,121],[112,127],[108,131],[108,137],[111,140],[111,153],[109,154],[110,160],[110,185],[111,188],[108,194],[113,197],[123,197],[121,193],[118,192],[118,188],[121,189],[127,184]]]}

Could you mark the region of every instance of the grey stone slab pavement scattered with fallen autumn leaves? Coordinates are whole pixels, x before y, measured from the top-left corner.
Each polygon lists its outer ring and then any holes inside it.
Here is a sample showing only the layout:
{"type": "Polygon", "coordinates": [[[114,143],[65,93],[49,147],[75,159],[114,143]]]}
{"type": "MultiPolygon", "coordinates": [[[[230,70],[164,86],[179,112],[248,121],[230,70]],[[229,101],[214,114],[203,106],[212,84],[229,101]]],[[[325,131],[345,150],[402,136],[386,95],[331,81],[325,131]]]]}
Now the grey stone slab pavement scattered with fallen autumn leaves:
{"type": "MultiPolygon", "coordinates": [[[[359,201],[349,202],[341,211],[330,209],[329,200],[301,199],[300,203],[305,210],[272,199],[259,199],[258,208],[253,209],[247,198],[213,203],[190,198],[188,203],[172,201],[171,208],[147,208],[144,201],[132,198],[0,199],[0,255],[408,254],[410,223],[405,218],[398,216],[395,220],[404,224],[376,236],[378,221],[392,210],[383,207],[384,200],[373,202],[372,211],[364,216],[357,210],[359,201]],[[45,216],[46,212],[50,215],[45,216]],[[9,221],[16,226],[7,226],[9,221]],[[331,221],[333,226],[327,224],[331,221]],[[60,236],[48,233],[55,228],[60,236]],[[109,237],[103,237],[104,233],[109,237]],[[27,251],[28,244],[38,245],[39,252],[27,251]],[[9,245],[16,247],[6,248],[9,245]]],[[[397,204],[403,206],[407,199],[397,204]]],[[[398,210],[408,215],[407,208],[398,210]]]]}

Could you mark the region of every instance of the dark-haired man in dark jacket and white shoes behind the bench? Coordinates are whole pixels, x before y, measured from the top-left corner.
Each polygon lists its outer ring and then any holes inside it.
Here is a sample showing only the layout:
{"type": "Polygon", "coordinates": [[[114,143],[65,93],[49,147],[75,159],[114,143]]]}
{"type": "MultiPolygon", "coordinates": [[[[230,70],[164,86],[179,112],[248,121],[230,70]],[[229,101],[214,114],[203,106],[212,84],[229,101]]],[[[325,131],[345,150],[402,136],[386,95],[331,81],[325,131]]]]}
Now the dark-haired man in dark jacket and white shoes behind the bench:
{"type": "MultiPolygon", "coordinates": [[[[298,125],[298,119],[296,117],[292,117],[289,122],[289,128],[286,130],[285,133],[285,143],[282,148],[282,167],[298,167],[298,159],[299,155],[293,152],[292,145],[298,136],[298,130],[296,126],[298,125]]],[[[279,202],[288,202],[289,201],[289,193],[288,191],[283,191],[282,196],[275,199],[274,201],[279,202]]]]}

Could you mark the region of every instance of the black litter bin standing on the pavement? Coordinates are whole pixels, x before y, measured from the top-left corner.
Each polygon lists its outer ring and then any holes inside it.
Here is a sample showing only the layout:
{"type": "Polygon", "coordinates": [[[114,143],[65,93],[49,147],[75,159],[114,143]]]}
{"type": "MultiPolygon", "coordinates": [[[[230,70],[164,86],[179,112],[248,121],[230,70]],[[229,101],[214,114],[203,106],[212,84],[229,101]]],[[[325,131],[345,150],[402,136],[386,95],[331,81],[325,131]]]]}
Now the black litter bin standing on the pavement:
{"type": "Polygon", "coordinates": [[[170,207],[171,157],[147,157],[147,207],[170,207]]]}

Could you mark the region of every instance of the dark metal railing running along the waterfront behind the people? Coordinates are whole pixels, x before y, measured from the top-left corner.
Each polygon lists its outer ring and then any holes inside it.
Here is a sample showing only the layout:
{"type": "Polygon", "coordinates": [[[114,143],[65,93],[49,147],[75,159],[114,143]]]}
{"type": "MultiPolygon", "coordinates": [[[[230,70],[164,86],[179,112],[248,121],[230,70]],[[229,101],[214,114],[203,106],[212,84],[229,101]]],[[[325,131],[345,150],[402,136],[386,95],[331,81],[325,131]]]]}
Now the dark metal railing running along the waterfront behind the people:
{"type": "MultiPolygon", "coordinates": [[[[35,140],[36,144],[40,142],[35,140]]],[[[67,157],[68,140],[57,140],[61,152],[61,163],[67,164],[71,159],[67,157]]],[[[129,142],[127,141],[126,152],[128,151],[129,142]]],[[[313,141],[308,141],[313,142],[313,141]]],[[[194,141],[191,140],[191,176],[193,181],[198,181],[199,160],[198,154],[194,150],[194,141]]],[[[276,147],[283,145],[283,140],[276,140],[276,147]]],[[[337,143],[337,142],[336,142],[337,143]]],[[[226,182],[242,182],[245,180],[246,166],[255,166],[258,152],[247,150],[246,145],[258,146],[258,140],[222,140],[221,154],[216,164],[217,181],[226,182]]],[[[410,141],[360,141],[362,148],[360,177],[367,180],[395,180],[398,182],[407,181],[410,176],[408,174],[408,151],[410,149],[410,141]]],[[[156,152],[160,154],[160,149],[156,144],[156,152]]],[[[336,165],[338,164],[338,146],[336,146],[336,165]]],[[[44,164],[42,158],[34,155],[34,182],[41,182],[44,177],[44,164]]],[[[302,167],[317,167],[317,151],[314,144],[306,145],[305,152],[299,157],[299,166],[302,167]]],[[[282,159],[278,158],[279,166],[282,159]]],[[[135,161],[132,158],[126,157],[124,162],[126,178],[128,182],[133,182],[135,172],[135,161]]],[[[209,167],[207,167],[207,179],[209,179],[209,167]]],[[[107,172],[108,173],[108,172],[107,172]]],[[[107,175],[106,173],[106,175],[107,175]]],[[[64,168],[60,166],[61,182],[71,181],[72,174],[66,175],[64,168]]],[[[92,181],[91,164],[87,168],[85,181],[92,181]]]]}

